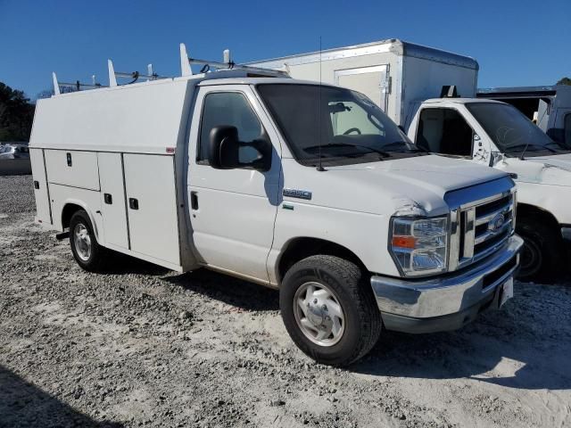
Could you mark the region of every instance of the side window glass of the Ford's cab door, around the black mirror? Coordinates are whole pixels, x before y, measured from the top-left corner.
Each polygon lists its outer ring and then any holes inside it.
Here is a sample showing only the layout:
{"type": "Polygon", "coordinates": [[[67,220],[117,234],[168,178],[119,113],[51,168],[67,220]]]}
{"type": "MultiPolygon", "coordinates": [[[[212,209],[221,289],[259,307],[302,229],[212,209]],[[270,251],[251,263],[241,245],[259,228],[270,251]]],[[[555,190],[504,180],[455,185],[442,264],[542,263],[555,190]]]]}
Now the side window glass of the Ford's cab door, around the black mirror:
{"type": "MultiPolygon", "coordinates": [[[[264,129],[247,98],[238,92],[213,92],[204,97],[200,139],[196,161],[208,165],[211,129],[220,126],[236,127],[240,142],[251,143],[261,138],[264,129]]],[[[249,146],[240,147],[241,162],[254,161],[259,153],[249,146]]]]}

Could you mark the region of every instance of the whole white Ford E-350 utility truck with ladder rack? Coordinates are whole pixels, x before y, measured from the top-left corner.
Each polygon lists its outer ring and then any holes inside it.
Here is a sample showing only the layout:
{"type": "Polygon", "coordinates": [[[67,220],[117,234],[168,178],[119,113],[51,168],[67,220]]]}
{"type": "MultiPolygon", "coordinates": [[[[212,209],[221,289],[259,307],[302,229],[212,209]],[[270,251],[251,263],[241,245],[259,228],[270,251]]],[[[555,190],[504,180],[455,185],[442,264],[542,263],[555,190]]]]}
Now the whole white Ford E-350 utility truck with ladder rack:
{"type": "Polygon", "coordinates": [[[357,92],[232,62],[191,75],[181,50],[182,77],[37,102],[37,222],[79,266],[120,251],[279,289],[294,342],[331,365],[383,326],[456,329],[511,297],[506,173],[426,154],[357,92]]]}

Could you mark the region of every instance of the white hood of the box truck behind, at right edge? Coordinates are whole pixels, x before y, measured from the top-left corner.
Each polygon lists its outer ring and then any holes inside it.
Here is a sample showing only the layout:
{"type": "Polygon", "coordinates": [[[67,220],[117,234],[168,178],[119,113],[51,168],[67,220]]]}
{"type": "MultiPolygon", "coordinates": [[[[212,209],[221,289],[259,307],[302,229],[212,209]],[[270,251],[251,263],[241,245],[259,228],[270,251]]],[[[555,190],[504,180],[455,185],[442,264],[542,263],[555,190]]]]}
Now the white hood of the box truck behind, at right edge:
{"type": "Polygon", "coordinates": [[[571,185],[571,153],[526,158],[505,158],[498,169],[517,174],[517,180],[541,185],[571,185]]]}

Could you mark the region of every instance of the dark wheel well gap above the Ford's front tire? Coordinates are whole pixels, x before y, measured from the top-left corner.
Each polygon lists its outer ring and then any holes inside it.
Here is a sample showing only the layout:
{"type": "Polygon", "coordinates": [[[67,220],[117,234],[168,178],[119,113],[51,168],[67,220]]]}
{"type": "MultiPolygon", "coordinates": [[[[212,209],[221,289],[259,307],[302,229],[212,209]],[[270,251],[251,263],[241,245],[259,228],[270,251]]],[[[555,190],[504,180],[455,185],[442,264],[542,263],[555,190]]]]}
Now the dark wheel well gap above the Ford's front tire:
{"type": "Polygon", "coordinates": [[[365,265],[360,261],[359,257],[351,250],[343,247],[343,245],[318,238],[296,238],[287,245],[285,251],[279,258],[277,263],[278,282],[281,283],[287,270],[294,266],[295,263],[317,254],[346,259],[366,270],[365,265]]]}

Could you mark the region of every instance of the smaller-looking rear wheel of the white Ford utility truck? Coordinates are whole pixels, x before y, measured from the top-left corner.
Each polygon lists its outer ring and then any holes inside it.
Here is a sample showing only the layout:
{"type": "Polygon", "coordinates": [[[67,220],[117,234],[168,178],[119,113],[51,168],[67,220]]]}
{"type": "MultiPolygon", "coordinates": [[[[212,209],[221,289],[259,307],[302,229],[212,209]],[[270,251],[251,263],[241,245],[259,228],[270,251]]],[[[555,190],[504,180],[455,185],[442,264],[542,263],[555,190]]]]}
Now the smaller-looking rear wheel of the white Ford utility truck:
{"type": "Polygon", "coordinates": [[[97,243],[91,220],[84,210],[71,216],[70,246],[73,257],[81,268],[89,272],[101,270],[104,248],[97,243]]]}

